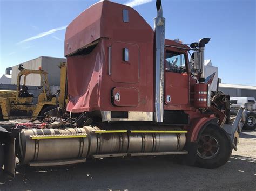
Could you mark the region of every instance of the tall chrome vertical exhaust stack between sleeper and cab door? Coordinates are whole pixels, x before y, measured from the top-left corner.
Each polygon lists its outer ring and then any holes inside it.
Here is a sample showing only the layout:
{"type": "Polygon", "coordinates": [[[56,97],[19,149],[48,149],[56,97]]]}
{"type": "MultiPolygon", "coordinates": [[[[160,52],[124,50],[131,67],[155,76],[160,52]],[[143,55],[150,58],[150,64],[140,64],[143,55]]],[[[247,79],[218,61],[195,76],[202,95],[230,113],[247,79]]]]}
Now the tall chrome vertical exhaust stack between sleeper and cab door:
{"type": "Polygon", "coordinates": [[[164,120],[164,43],[165,18],[161,0],[156,1],[157,17],[154,18],[154,46],[155,46],[155,120],[158,123],[164,120]]]}

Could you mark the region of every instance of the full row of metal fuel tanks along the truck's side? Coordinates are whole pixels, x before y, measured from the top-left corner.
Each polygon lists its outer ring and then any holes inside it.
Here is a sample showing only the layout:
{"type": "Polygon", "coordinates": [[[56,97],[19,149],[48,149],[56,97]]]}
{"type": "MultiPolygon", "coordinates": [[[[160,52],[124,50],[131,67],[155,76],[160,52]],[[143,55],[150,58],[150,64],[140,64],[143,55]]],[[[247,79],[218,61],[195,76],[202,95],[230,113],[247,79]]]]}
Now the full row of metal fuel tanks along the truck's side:
{"type": "Polygon", "coordinates": [[[93,158],[104,154],[181,151],[186,142],[179,131],[101,130],[94,126],[30,129],[19,135],[22,164],[93,158]]]}

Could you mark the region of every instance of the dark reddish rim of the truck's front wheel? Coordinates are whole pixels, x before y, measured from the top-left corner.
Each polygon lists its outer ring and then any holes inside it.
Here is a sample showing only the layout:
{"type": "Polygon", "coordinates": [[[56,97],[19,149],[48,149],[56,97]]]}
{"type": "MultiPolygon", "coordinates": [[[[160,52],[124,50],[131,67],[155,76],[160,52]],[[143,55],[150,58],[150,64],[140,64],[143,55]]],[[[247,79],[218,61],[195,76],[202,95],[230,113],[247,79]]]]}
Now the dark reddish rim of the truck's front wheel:
{"type": "Polygon", "coordinates": [[[219,142],[211,135],[203,135],[198,142],[197,155],[203,159],[212,159],[219,152],[219,142]]]}

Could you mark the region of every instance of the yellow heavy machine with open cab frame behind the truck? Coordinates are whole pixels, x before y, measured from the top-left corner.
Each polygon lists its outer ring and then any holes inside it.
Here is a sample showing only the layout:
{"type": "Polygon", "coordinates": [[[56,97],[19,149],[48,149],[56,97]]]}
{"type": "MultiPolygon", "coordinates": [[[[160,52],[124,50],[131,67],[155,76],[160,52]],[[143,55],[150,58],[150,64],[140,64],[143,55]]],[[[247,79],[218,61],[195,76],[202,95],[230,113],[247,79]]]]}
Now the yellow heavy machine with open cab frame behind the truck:
{"type": "Polygon", "coordinates": [[[39,68],[38,70],[25,69],[19,67],[17,76],[17,89],[0,90],[0,120],[8,119],[36,119],[45,117],[48,112],[57,107],[65,106],[66,94],[66,63],[60,63],[60,90],[55,94],[51,93],[47,72],[39,68]],[[41,79],[41,86],[36,88],[41,93],[38,95],[37,104],[33,103],[33,94],[28,92],[26,77],[30,74],[37,74],[41,79]],[[23,83],[22,83],[23,81],[23,83]],[[22,84],[21,84],[22,83],[22,84]],[[59,94],[58,100],[56,95],[59,94]]]}

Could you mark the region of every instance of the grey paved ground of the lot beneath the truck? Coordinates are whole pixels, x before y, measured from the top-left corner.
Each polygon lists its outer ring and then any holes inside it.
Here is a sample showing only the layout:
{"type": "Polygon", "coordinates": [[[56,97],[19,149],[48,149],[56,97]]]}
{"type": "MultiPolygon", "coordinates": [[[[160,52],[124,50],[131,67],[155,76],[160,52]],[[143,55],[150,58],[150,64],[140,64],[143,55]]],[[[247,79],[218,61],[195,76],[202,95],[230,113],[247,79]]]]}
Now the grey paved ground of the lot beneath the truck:
{"type": "Polygon", "coordinates": [[[104,159],[70,168],[27,171],[0,190],[256,190],[256,131],[242,132],[238,151],[218,169],[172,158],[104,159]]]}

